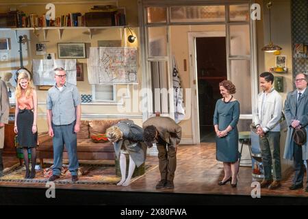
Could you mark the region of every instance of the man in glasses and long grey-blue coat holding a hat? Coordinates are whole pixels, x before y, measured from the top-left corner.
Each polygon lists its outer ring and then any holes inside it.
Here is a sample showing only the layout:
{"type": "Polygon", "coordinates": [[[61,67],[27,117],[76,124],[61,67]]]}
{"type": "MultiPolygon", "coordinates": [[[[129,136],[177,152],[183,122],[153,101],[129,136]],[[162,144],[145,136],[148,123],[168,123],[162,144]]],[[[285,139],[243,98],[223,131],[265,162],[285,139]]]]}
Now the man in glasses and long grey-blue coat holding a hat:
{"type": "MultiPolygon", "coordinates": [[[[305,127],[308,133],[308,76],[298,73],[295,77],[296,90],[287,94],[285,101],[285,119],[287,120],[287,139],[285,140],[285,159],[294,159],[295,175],[290,190],[303,188],[304,160],[308,160],[307,142],[302,146],[293,140],[295,129],[305,127]]],[[[308,172],[308,170],[307,170],[308,172]]],[[[305,192],[308,192],[308,177],[305,192]]]]}

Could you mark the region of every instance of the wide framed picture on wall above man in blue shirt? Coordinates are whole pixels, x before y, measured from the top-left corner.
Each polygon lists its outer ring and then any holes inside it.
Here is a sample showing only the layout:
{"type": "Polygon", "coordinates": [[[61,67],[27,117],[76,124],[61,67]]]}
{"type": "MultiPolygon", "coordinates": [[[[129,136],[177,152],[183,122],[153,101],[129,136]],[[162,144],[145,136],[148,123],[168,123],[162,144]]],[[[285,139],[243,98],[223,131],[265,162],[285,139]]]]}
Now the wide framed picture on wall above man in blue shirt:
{"type": "Polygon", "coordinates": [[[60,59],[85,59],[86,43],[58,43],[57,54],[60,59]]]}

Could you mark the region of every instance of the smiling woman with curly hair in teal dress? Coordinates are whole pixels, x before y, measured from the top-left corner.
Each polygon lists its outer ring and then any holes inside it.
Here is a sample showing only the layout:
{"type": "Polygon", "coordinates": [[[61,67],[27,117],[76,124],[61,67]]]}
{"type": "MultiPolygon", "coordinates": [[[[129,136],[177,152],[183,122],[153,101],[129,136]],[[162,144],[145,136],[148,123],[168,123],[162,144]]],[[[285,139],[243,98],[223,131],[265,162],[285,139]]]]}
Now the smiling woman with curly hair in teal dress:
{"type": "Polygon", "coordinates": [[[234,99],[235,86],[231,81],[219,83],[222,99],[216,102],[214,128],[216,131],[216,159],[224,163],[224,179],[218,185],[231,181],[233,188],[238,184],[238,120],[240,103],[234,99]]]}

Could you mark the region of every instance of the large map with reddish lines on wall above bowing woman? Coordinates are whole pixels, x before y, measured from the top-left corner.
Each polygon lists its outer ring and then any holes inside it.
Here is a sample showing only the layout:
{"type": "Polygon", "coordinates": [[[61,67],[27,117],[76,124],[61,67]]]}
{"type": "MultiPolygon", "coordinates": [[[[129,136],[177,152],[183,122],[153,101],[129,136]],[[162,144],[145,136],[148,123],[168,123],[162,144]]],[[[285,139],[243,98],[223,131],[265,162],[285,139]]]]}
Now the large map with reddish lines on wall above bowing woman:
{"type": "Polygon", "coordinates": [[[88,79],[90,84],[137,83],[137,48],[91,47],[88,79]]]}

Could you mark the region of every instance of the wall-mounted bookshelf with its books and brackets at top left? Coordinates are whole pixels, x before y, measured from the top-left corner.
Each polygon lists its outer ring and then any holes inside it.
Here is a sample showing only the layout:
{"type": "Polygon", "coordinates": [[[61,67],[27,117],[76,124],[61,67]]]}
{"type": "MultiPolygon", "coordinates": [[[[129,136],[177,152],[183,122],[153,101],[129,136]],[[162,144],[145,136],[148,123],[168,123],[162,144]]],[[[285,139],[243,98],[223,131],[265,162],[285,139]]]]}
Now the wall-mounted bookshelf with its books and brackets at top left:
{"type": "MultiPolygon", "coordinates": [[[[44,5],[44,3],[30,4],[44,5]]],[[[72,6],[79,5],[79,8],[77,9],[79,12],[62,12],[61,15],[54,15],[55,17],[53,20],[49,21],[46,14],[30,13],[29,10],[28,12],[24,12],[27,10],[25,10],[21,5],[18,5],[15,10],[0,13],[0,31],[15,31],[16,39],[18,36],[18,31],[42,31],[44,33],[44,40],[46,40],[49,30],[57,30],[59,39],[61,40],[64,30],[88,30],[91,39],[94,29],[124,29],[127,27],[125,8],[118,7],[118,3],[115,0],[77,2],[64,1],[62,3],[53,3],[53,5],[58,4],[72,6]]],[[[8,5],[12,4],[8,3],[8,5]]],[[[69,7],[68,10],[71,10],[72,8],[73,7],[69,7]]]]}

